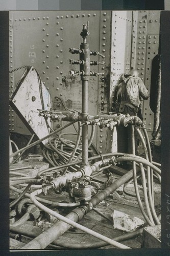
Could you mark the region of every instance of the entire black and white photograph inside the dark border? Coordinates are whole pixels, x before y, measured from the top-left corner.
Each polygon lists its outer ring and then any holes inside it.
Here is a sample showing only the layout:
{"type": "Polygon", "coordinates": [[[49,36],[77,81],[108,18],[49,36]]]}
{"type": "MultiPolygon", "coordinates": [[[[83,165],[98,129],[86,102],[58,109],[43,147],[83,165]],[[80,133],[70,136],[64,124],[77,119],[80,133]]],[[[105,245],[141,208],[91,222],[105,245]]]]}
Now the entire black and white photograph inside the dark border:
{"type": "Polygon", "coordinates": [[[11,251],[161,247],[160,14],[9,12],[11,251]]]}

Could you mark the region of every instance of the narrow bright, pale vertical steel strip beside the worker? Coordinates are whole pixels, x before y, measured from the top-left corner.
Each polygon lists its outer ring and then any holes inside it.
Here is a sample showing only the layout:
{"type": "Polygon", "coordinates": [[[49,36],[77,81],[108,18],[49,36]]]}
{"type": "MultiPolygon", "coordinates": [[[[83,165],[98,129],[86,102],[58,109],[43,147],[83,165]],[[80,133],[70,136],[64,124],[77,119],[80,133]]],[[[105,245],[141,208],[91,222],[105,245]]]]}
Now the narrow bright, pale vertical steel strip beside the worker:
{"type": "MultiPolygon", "coordinates": [[[[110,72],[110,109],[112,95],[120,76],[128,73],[131,63],[132,47],[132,11],[112,12],[112,38],[111,38],[111,72],[110,72]]],[[[112,137],[112,150],[117,150],[117,134],[114,129],[112,137]]]]}

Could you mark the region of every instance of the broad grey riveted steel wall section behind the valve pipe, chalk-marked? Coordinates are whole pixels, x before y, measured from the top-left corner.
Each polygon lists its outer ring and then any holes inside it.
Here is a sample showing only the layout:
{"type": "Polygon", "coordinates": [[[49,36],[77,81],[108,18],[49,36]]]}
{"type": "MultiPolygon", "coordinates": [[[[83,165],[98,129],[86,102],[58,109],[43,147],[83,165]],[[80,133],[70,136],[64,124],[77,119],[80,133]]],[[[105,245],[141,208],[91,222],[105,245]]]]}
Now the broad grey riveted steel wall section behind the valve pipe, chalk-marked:
{"type": "MultiPolygon", "coordinates": [[[[90,35],[87,41],[90,50],[100,51],[106,56],[105,66],[90,66],[90,70],[103,72],[107,76],[110,65],[111,11],[14,11],[10,15],[10,70],[25,65],[35,67],[52,96],[54,109],[63,109],[62,101],[55,98],[57,96],[65,102],[66,108],[81,111],[80,77],[70,77],[68,73],[69,70],[79,70],[79,66],[69,63],[69,59],[79,59],[79,55],[69,53],[69,48],[80,48],[80,32],[88,20],[90,35]]],[[[91,56],[90,59],[103,60],[99,56],[91,56]]],[[[16,86],[23,71],[11,74],[10,89],[16,86]]],[[[90,77],[90,114],[108,111],[109,90],[106,79],[101,76],[90,77]]],[[[11,125],[10,131],[28,133],[16,116],[11,125]]],[[[54,122],[54,129],[57,125],[61,123],[54,122]]],[[[103,153],[106,151],[106,129],[96,130],[94,143],[103,153]]]]}

